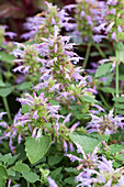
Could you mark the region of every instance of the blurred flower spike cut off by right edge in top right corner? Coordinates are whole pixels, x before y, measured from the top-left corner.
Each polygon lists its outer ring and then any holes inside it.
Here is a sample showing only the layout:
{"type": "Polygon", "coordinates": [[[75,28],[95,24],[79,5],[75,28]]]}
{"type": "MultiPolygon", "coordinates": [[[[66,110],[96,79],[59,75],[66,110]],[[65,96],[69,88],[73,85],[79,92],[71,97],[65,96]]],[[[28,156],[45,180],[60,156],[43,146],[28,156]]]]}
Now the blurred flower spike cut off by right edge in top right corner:
{"type": "Polygon", "coordinates": [[[106,29],[105,34],[110,40],[124,40],[124,1],[123,0],[108,0],[106,1],[106,29]]]}

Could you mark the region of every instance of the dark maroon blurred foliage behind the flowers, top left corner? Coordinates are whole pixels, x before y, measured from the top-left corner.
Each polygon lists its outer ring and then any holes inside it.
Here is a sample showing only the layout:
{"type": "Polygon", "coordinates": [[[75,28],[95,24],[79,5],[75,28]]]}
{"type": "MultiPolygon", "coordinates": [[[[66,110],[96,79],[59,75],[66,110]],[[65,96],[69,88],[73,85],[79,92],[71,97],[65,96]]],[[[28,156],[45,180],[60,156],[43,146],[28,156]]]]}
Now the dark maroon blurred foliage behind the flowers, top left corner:
{"type": "MultiPolygon", "coordinates": [[[[75,3],[75,0],[48,0],[58,7],[75,3]]],[[[0,24],[8,25],[8,30],[18,34],[16,41],[24,32],[23,23],[29,16],[33,16],[45,10],[44,0],[0,0],[0,24]]]]}

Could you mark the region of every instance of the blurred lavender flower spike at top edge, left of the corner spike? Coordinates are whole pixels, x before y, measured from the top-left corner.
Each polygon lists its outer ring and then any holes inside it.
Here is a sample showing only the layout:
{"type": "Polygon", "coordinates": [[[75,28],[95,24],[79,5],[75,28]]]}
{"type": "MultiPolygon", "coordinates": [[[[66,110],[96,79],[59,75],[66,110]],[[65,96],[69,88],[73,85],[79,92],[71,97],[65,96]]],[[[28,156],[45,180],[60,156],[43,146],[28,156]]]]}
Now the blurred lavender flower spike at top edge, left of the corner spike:
{"type": "MultiPolygon", "coordinates": [[[[70,4],[71,6],[71,4],[70,4]]],[[[105,2],[98,0],[77,0],[77,6],[75,8],[75,34],[78,34],[82,37],[83,42],[88,40],[93,40],[94,42],[101,42],[105,35],[98,34],[97,30],[99,25],[105,24],[104,21],[104,10],[105,2]]],[[[70,7],[66,7],[70,10],[70,7]]],[[[104,30],[104,26],[102,26],[104,30]]]]}

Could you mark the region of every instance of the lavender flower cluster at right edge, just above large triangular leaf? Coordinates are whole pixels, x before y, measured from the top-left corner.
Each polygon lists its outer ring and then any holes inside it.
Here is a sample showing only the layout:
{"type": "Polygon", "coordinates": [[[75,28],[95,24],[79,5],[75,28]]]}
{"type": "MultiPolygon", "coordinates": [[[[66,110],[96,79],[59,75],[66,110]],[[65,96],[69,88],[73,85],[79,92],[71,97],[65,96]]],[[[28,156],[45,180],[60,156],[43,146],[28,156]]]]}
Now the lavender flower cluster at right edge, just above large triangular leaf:
{"type": "Polygon", "coordinates": [[[88,133],[98,132],[99,134],[113,134],[116,133],[119,129],[124,128],[123,117],[116,116],[114,118],[114,110],[110,110],[109,114],[97,117],[91,113],[92,120],[88,123],[88,133]]]}

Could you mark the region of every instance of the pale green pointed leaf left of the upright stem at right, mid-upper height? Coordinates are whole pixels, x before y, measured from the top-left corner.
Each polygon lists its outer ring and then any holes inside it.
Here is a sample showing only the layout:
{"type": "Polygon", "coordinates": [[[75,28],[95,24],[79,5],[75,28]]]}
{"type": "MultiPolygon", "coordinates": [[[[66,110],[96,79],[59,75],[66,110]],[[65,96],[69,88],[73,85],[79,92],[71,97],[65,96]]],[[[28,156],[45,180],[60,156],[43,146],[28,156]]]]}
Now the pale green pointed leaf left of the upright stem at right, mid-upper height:
{"type": "Polygon", "coordinates": [[[111,67],[112,67],[112,63],[100,65],[97,69],[95,78],[102,77],[102,76],[106,75],[108,73],[110,73],[111,67]]]}

